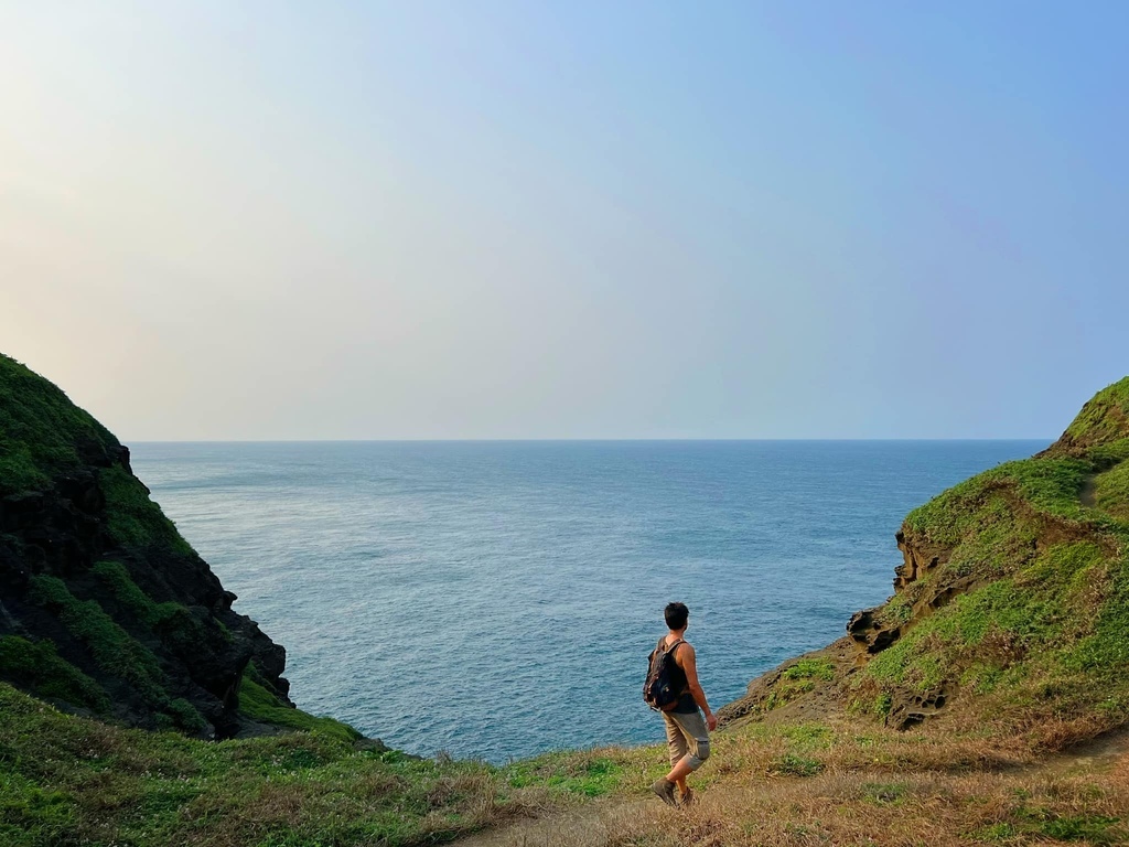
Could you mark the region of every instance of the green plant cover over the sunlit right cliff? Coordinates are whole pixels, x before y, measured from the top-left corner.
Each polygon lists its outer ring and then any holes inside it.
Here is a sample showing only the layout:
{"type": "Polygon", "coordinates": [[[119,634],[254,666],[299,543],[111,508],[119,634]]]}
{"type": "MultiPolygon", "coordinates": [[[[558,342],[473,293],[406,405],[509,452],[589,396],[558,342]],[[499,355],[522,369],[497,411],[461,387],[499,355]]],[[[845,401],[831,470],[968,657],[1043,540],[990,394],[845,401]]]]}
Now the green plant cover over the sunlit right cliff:
{"type": "Polygon", "coordinates": [[[855,711],[884,718],[875,691],[892,704],[948,683],[974,707],[1056,718],[1129,699],[1127,403],[1129,379],[1079,416],[1086,448],[1001,464],[910,513],[908,542],[940,564],[878,611],[908,631],[854,680],[855,711]],[[956,595],[911,620],[945,586],[956,595]]]}

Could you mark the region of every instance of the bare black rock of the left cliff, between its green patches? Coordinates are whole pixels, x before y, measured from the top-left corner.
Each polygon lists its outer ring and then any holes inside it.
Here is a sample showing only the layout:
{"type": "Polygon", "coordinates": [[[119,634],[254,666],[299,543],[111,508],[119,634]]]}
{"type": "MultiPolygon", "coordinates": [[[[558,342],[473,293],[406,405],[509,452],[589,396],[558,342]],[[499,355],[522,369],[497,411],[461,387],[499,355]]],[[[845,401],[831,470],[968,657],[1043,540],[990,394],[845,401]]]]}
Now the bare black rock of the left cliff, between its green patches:
{"type": "MultiPolygon", "coordinates": [[[[178,716],[177,709],[183,710],[169,704],[186,701],[207,722],[203,727],[192,725],[194,734],[237,734],[237,692],[251,661],[273,693],[289,702],[289,683],[282,678],[286,650],[254,621],[233,611],[235,595],[224,590],[207,562],[183,542],[173,547],[157,539],[131,545],[114,538],[112,506],[99,471],[120,469],[129,474],[139,497],[148,495],[130,471],[129,451],[99,451],[87,444],[79,452],[93,460],[90,466],[69,470],[45,489],[0,498],[0,637],[18,636],[33,643],[50,639],[63,660],[106,691],[110,716],[130,725],[165,725],[169,714],[178,716]],[[94,573],[96,564],[107,560],[124,567],[138,596],[154,608],[167,609],[168,618],[140,620],[137,610],[94,573]],[[43,577],[60,579],[75,599],[75,608],[36,602],[33,587],[43,577]],[[135,644],[138,650],[156,658],[161,691],[147,690],[128,672],[114,672],[125,660],[105,655],[105,645],[95,639],[116,636],[95,631],[104,625],[94,606],[82,605],[87,603],[97,604],[124,631],[130,639],[126,645],[135,644]],[[96,620],[79,620],[84,611],[96,620]]],[[[149,506],[151,519],[163,521],[156,504],[149,506]]]]}

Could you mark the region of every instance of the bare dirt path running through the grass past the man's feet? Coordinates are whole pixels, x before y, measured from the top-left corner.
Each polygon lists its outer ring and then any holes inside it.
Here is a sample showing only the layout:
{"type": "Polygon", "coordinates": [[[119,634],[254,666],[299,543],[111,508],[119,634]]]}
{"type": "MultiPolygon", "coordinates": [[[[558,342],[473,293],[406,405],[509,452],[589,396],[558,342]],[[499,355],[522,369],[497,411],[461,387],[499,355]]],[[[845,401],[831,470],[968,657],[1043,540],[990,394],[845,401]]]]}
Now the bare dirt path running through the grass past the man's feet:
{"type": "MultiPolygon", "coordinates": [[[[1111,771],[1129,757],[1129,731],[1111,733],[1085,744],[1056,753],[1025,768],[1031,775],[1095,776],[1111,771]]],[[[739,807],[751,793],[764,787],[739,781],[714,785],[701,795],[702,810],[739,807]]],[[[456,847],[607,847],[622,844],[616,833],[638,828],[640,814],[656,822],[673,823],[679,810],[668,809],[655,797],[599,800],[544,818],[524,819],[499,829],[487,830],[455,842],[456,847]]]]}

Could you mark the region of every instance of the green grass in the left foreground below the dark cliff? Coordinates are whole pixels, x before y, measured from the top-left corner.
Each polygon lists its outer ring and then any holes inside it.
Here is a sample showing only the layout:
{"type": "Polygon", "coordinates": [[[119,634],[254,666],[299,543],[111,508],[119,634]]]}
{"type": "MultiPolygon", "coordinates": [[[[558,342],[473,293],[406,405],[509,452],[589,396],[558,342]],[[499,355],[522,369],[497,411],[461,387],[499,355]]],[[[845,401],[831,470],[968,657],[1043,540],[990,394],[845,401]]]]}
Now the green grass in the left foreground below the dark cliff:
{"type": "Polygon", "coordinates": [[[425,845],[519,812],[497,768],[315,731],[205,742],[62,715],[0,683],[0,844],[425,845]]]}

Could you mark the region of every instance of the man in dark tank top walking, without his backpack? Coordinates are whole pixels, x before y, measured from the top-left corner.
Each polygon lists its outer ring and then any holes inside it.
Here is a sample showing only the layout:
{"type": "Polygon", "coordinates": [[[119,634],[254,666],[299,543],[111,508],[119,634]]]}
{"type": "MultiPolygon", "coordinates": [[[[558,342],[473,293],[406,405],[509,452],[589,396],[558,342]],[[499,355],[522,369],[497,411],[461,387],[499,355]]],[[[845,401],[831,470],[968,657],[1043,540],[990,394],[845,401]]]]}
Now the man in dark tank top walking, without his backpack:
{"type": "Polygon", "coordinates": [[[698,682],[694,648],[685,640],[690,610],[685,603],[671,603],[663,611],[669,632],[659,643],[663,649],[674,648],[674,682],[682,689],[679,704],[663,713],[666,722],[666,742],[671,748],[671,772],[651,786],[651,791],[668,805],[689,805],[693,792],[686,777],[698,770],[709,758],[709,732],[717,728],[717,718],[706,701],[706,692],[698,682]],[[681,683],[681,684],[680,684],[681,683]],[[701,711],[699,711],[699,707],[701,711]],[[702,719],[704,713],[706,719],[702,719]],[[679,798],[674,791],[677,787],[679,798]]]}

